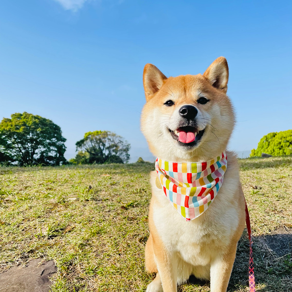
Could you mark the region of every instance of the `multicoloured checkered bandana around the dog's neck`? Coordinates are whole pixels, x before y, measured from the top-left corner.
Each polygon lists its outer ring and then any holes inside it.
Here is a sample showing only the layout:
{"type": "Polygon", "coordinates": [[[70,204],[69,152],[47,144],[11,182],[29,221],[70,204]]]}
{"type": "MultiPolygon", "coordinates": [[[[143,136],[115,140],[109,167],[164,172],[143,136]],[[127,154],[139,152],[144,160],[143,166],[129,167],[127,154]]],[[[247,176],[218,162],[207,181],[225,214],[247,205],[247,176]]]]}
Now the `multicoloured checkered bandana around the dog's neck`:
{"type": "Polygon", "coordinates": [[[205,162],[176,163],[158,157],[155,161],[158,187],[160,183],[171,205],[187,221],[199,217],[213,202],[226,167],[225,152],[205,162]]]}

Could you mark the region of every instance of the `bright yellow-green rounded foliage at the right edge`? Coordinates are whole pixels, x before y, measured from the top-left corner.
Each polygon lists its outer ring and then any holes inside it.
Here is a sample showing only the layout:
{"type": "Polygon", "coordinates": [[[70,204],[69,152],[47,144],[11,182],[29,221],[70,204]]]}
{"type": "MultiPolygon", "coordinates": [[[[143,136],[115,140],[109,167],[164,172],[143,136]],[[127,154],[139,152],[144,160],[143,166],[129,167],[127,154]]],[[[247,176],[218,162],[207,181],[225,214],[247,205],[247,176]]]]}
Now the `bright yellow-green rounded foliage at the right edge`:
{"type": "Polygon", "coordinates": [[[272,156],[292,154],[292,130],[273,132],[263,136],[258,148],[251,150],[250,156],[261,156],[262,153],[272,156]]]}

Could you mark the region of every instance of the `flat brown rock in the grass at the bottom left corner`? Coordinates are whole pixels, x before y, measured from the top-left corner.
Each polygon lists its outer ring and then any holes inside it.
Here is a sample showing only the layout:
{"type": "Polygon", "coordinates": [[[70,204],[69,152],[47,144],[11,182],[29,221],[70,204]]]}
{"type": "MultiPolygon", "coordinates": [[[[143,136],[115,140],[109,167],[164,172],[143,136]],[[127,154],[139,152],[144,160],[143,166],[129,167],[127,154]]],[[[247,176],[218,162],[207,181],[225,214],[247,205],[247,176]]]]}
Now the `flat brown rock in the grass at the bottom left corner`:
{"type": "Polygon", "coordinates": [[[13,267],[0,274],[0,292],[48,292],[57,268],[53,260],[39,265],[41,258],[31,260],[24,268],[13,267]]]}

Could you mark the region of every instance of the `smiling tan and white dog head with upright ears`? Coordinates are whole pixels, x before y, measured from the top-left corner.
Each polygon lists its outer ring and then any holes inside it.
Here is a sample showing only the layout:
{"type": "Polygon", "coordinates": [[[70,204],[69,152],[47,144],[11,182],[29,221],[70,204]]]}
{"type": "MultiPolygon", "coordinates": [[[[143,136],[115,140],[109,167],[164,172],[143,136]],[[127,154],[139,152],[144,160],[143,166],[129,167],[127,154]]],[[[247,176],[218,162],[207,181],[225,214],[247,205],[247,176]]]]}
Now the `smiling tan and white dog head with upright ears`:
{"type": "Polygon", "coordinates": [[[176,162],[204,161],[226,149],[234,127],[227,82],[223,57],[203,75],[167,78],[154,65],[145,65],[141,129],[154,156],[176,162]]]}

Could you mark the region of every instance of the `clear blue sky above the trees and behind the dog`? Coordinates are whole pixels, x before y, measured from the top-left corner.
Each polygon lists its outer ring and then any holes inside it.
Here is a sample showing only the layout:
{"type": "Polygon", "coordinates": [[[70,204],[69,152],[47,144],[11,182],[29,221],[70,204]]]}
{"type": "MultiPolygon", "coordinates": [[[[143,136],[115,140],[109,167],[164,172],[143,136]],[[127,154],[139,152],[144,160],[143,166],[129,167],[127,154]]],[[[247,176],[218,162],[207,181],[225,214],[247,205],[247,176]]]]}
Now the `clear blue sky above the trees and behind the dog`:
{"type": "Polygon", "coordinates": [[[109,130],[152,159],[139,128],[146,63],[166,76],[227,58],[237,127],[230,148],[291,128],[291,1],[2,0],[0,118],[53,120],[67,159],[84,133],[109,130]]]}

